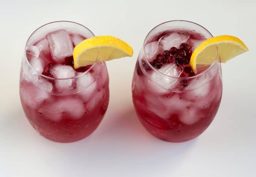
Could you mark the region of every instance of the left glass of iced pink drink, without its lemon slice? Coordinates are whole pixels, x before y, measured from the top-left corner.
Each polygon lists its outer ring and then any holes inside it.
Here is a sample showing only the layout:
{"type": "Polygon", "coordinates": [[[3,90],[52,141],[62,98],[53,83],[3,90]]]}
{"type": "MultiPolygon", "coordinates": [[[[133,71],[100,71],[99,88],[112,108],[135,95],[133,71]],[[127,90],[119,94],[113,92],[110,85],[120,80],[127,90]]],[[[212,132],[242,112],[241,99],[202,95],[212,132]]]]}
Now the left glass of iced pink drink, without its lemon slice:
{"type": "Polygon", "coordinates": [[[89,136],[109,102],[105,62],[74,69],[73,49],[94,34],[73,22],[37,29],[26,44],[20,71],[20,99],[30,124],[55,142],[89,136]]]}

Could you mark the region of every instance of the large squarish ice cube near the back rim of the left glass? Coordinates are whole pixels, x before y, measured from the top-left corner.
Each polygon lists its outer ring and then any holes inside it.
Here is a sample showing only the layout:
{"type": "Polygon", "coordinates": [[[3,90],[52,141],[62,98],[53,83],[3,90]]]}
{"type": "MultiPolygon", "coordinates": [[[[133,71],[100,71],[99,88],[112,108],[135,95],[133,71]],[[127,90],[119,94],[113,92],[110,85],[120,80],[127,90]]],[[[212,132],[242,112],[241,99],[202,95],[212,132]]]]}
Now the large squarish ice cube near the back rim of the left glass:
{"type": "Polygon", "coordinates": [[[47,39],[53,60],[64,62],[66,57],[73,55],[74,47],[66,30],[49,33],[47,39]]]}

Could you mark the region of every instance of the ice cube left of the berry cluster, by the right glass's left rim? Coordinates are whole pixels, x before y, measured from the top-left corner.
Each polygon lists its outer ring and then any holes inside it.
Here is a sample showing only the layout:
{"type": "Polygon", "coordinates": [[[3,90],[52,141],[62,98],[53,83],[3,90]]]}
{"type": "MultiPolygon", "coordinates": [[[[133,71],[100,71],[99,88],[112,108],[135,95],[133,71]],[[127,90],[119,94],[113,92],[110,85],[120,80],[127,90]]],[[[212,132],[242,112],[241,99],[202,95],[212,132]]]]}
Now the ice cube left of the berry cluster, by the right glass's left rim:
{"type": "Polygon", "coordinates": [[[163,48],[159,45],[158,41],[150,42],[144,47],[144,53],[149,62],[153,61],[158,53],[162,53],[163,48]]]}

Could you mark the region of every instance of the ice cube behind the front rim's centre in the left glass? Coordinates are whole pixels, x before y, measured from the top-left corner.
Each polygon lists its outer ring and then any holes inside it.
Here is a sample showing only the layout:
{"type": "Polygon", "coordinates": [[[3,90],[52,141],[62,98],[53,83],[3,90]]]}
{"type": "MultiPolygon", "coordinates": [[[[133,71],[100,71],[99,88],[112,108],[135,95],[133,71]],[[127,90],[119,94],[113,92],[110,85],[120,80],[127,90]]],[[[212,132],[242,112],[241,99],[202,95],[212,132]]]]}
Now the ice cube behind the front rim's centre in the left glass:
{"type": "Polygon", "coordinates": [[[55,86],[59,91],[72,89],[73,78],[75,76],[75,69],[68,65],[55,65],[50,68],[50,73],[54,76],[55,86]]]}

